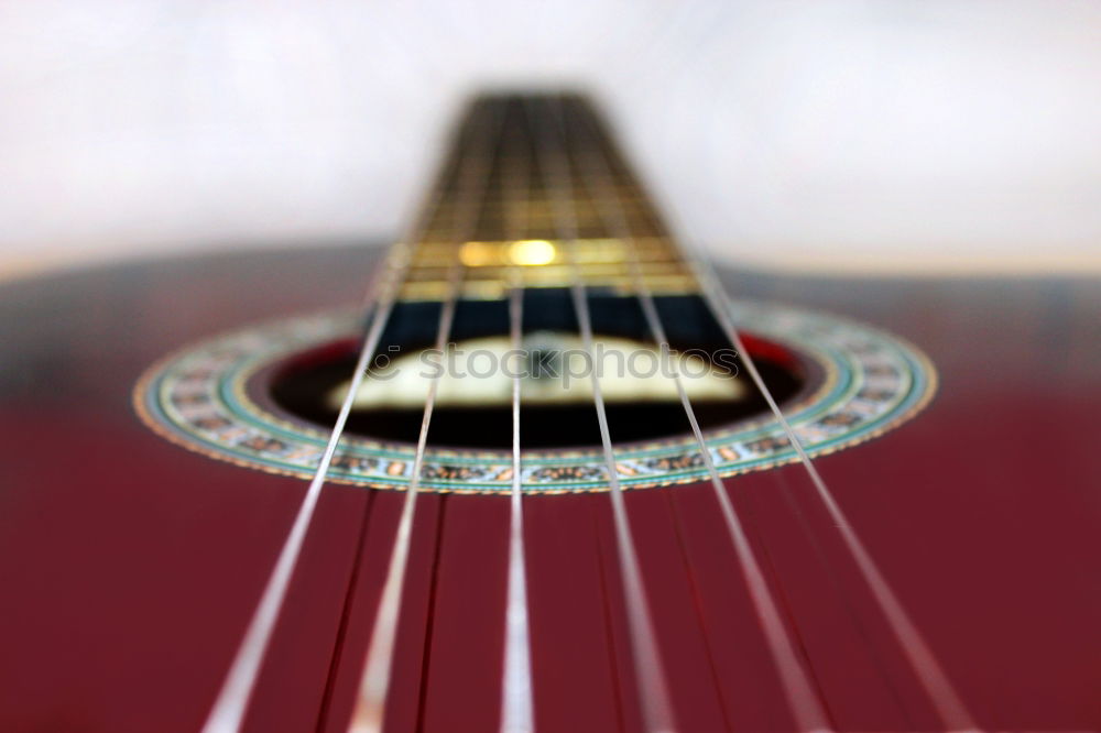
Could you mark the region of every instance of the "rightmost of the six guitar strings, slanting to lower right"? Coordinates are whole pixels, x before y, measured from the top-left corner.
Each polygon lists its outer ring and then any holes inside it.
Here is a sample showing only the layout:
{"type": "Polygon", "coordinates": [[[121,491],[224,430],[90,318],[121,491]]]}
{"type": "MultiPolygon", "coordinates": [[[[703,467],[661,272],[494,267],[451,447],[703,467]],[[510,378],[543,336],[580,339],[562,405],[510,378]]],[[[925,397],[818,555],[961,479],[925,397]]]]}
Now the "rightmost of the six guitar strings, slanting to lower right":
{"type": "MultiPolygon", "coordinates": [[[[680,225],[679,221],[677,223],[680,225]]],[[[684,231],[682,226],[678,226],[677,228],[684,231]]],[[[818,472],[813,459],[807,453],[792,425],[784,416],[783,411],[781,411],[777,405],[772,392],[768,390],[764,379],[761,376],[760,371],[757,371],[756,363],[746,350],[741,338],[741,332],[730,315],[733,305],[730,300],[730,296],[726,292],[726,288],[719,281],[715,266],[702,255],[694,240],[689,239],[684,249],[685,253],[688,255],[688,264],[704,291],[704,298],[708,305],[708,309],[719,321],[728,341],[734,347],[738,354],[742,358],[742,363],[745,364],[745,370],[749,372],[750,379],[753,381],[761,396],[765,400],[768,405],[768,409],[775,416],[776,422],[783,429],[785,437],[795,450],[799,463],[804,467],[804,470],[815,488],[815,493],[817,494],[819,501],[821,501],[821,503],[826,506],[826,510],[830,515],[830,519],[837,528],[846,549],[853,558],[857,569],[862,576],[864,582],[868,584],[869,590],[872,592],[872,595],[875,599],[881,613],[886,620],[887,625],[891,626],[892,633],[894,633],[895,637],[898,639],[898,645],[913,669],[914,675],[917,677],[918,683],[922,686],[937,714],[940,716],[941,722],[949,731],[979,730],[970,710],[968,709],[968,705],[963,702],[962,698],[960,698],[959,692],[956,690],[951,680],[948,678],[948,675],[940,666],[933,648],[929,646],[920,631],[918,631],[917,626],[909,617],[909,614],[902,605],[902,602],[898,600],[897,595],[895,595],[894,590],[887,583],[886,578],[879,569],[879,566],[872,559],[871,554],[864,547],[863,541],[852,528],[848,517],[841,511],[841,507],[837,503],[832,492],[821,478],[821,474],[818,472]]]]}

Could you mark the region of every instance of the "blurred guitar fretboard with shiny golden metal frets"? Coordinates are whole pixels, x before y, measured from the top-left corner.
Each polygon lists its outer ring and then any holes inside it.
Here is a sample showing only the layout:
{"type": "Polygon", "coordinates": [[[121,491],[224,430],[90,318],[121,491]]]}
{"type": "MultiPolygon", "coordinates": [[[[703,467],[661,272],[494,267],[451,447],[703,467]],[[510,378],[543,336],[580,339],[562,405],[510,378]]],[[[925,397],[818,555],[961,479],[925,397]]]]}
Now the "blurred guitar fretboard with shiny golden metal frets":
{"type": "Polygon", "coordinates": [[[592,107],[577,96],[471,103],[424,205],[400,297],[514,286],[694,293],[695,280],[592,107]]]}

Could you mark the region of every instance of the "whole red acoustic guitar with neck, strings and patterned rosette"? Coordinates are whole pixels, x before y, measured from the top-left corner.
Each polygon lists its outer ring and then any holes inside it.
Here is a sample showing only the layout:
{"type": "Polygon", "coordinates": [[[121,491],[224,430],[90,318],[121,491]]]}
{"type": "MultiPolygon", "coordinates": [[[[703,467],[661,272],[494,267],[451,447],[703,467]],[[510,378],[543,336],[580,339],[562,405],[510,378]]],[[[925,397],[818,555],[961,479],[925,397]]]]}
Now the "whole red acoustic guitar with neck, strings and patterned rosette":
{"type": "Polygon", "coordinates": [[[446,147],[384,251],[0,288],[0,729],[1101,727],[1097,282],[717,271],[576,95],[446,147]]]}

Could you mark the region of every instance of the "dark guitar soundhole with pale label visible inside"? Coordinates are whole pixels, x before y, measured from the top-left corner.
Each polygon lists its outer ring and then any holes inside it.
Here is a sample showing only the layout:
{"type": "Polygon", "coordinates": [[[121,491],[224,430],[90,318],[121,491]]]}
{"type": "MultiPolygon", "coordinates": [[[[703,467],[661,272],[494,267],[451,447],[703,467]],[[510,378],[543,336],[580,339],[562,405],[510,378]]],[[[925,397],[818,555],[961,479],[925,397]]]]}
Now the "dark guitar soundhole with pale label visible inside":
{"type": "MultiPolygon", "coordinates": [[[[592,364],[600,362],[601,392],[615,442],[690,434],[668,376],[676,360],[682,384],[705,430],[766,416],[767,404],[726,343],[719,326],[694,296],[657,299],[668,348],[645,338],[636,300],[591,298],[596,341],[588,360],[564,294],[530,293],[524,338],[511,353],[508,313],[500,302],[464,302],[446,353],[432,350],[438,304],[402,304],[383,337],[384,354],[357,394],[346,430],[383,441],[415,444],[427,385],[439,374],[429,444],[434,447],[509,450],[512,446],[512,374],[522,374],[521,442],[524,448],[599,447],[592,364]],[[665,360],[665,361],[663,361],[665,360]]],[[[774,397],[787,402],[807,387],[805,362],[773,342],[746,338],[751,357],[774,397]]],[[[359,343],[348,339],[302,353],[274,370],[270,397],[290,416],[330,427],[356,365],[359,343]]]]}

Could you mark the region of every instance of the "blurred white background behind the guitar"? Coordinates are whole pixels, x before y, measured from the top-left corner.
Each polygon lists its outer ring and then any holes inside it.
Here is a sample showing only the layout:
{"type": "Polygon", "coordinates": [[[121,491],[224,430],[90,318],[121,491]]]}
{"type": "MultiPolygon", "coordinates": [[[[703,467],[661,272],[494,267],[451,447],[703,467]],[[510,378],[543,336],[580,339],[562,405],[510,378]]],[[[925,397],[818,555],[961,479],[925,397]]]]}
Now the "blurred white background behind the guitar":
{"type": "Polygon", "coordinates": [[[385,240],[462,98],[590,90],[745,266],[1101,273],[1101,3],[0,4],[0,275],[385,240]]]}

